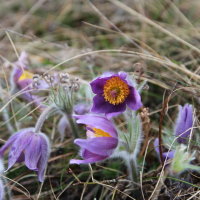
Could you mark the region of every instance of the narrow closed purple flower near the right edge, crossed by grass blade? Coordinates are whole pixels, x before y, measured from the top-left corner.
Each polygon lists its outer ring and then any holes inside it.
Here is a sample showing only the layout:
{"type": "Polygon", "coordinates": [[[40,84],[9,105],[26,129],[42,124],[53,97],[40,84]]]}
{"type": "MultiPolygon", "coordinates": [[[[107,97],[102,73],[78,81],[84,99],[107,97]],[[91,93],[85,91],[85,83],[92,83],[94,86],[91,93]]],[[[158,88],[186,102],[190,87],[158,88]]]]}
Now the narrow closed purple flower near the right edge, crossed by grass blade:
{"type": "Polygon", "coordinates": [[[179,136],[177,139],[179,143],[186,142],[192,131],[193,122],[192,105],[185,104],[183,107],[179,106],[179,114],[175,125],[175,135],[179,136]]]}

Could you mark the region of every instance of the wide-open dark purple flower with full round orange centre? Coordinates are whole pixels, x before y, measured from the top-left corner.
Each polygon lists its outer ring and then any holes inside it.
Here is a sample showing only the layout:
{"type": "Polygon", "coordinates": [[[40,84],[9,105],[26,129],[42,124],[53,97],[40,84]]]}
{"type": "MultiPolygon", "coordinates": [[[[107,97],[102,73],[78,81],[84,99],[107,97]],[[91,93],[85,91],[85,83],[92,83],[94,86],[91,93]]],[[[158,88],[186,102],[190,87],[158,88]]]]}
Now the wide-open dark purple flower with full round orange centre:
{"type": "Polygon", "coordinates": [[[126,105],[132,110],[138,110],[142,106],[140,94],[125,72],[105,73],[90,85],[96,94],[92,112],[105,113],[112,117],[124,112],[126,105]]]}

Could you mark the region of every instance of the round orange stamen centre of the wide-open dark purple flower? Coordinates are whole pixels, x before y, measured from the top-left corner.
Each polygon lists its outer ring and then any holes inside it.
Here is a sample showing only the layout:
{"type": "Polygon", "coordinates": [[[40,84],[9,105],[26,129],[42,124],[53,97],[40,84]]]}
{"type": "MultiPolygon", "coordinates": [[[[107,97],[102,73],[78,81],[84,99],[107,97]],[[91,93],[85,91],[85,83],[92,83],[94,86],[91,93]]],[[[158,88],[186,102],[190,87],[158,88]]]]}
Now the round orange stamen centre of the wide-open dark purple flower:
{"type": "Polygon", "coordinates": [[[107,80],[103,88],[104,99],[113,105],[123,103],[129,93],[128,85],[119,77],[107,80]]]}

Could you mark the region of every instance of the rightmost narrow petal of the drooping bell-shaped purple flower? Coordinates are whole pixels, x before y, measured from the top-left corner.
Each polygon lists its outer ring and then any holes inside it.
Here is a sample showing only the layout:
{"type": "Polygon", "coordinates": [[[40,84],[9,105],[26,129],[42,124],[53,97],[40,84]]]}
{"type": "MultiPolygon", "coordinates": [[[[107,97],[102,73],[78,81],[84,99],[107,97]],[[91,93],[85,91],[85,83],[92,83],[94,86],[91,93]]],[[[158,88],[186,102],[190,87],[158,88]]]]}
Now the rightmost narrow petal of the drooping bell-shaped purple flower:
{"type": "Polygon", "coordinates": [[[50,144],[46,135],[40,133],[41,139],[41,157],[38,161],[38,179],[40,182],[44,181],[44,173],[47,167],[47,162],[50,155],[50,144]]]}

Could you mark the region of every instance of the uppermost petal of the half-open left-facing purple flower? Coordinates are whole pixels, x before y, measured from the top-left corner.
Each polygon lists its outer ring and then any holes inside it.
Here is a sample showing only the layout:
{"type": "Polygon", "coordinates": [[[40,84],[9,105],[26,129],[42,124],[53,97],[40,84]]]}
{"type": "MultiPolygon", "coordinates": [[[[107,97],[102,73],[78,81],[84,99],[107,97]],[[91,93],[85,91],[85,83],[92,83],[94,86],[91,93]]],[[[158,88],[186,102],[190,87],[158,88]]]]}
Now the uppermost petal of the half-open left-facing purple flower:
{"type": "Polygon", "coordinates": [[[114,125],[106,117],[97,116],[94,114],[75,115],[75,117],[77,118],[77,123],[86,124],[93,128],[101,129],[110,134],[112,137],[117,138],[117,131],[114,125]]]}

